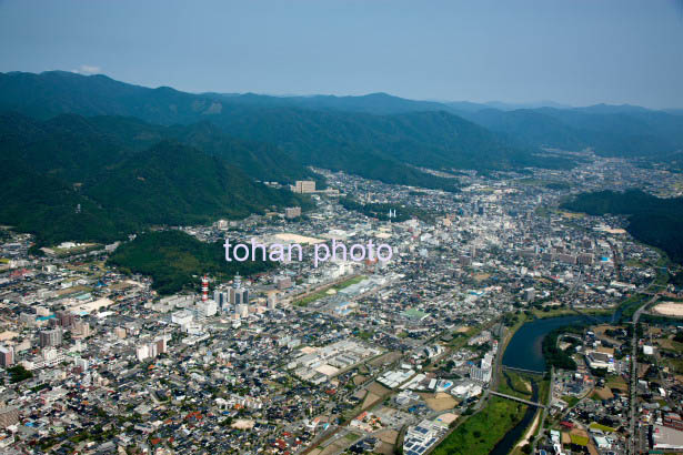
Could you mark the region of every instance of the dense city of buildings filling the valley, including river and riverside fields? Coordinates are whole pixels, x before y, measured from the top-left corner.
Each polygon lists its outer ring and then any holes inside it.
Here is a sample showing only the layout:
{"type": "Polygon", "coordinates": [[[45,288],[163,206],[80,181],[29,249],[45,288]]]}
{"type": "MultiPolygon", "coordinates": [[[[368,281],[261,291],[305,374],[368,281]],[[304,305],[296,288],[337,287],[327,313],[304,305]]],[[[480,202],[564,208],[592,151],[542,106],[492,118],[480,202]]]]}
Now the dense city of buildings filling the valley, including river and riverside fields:
{"type": "Polygon", "coordinates": [[[310,211],[160,228],[284,251],[171,295],[108,265],[125,242],[37,256],[4,226],[0,453],[683,452],[683,332],[656,323],[683,315],[661,280],[675,266],[625,219],[560,209],[602,189],[680,195],[680,176],[589,158],[439,173],[459,192],[314,169],[328,189],[291,188],[310,211]],[[346,196],[394,212],[369,218],[346,196]],[[428,215],[398,222],[406,208],[428,215]],[[390,260],[322,260],[319,245],[369,241],[390,260]],[[292,244],[321,255],[288,257],[292,244]],[[532,333],[556,317],[572,322],[532,333]]]}

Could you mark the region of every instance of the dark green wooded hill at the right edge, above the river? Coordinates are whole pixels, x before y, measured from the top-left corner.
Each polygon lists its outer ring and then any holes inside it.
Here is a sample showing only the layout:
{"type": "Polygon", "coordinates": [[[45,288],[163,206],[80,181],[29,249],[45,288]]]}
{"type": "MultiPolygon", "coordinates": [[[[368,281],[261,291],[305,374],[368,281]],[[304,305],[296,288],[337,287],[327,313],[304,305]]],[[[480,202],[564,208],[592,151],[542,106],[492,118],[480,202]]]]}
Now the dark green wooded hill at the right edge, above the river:
{"type": "Polygon", "coordinates": [[[640,190],[600,191],[579,194],[562,208],[590,215],[626,215],[631,235],[683,263],[683,198],[656,198],[640,190]]]}

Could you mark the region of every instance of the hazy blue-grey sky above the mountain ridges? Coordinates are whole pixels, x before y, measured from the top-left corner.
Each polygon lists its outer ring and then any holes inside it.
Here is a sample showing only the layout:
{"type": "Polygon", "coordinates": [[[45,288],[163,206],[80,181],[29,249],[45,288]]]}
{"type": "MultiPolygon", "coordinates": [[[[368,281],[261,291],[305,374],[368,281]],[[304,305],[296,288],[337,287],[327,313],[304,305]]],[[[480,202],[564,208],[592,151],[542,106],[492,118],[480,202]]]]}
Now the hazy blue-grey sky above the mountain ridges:
{"type": "Polygon", "coordinates": [[[683,108],[676,0],[0,0],[0,71],[201,92],[683,108]]]}

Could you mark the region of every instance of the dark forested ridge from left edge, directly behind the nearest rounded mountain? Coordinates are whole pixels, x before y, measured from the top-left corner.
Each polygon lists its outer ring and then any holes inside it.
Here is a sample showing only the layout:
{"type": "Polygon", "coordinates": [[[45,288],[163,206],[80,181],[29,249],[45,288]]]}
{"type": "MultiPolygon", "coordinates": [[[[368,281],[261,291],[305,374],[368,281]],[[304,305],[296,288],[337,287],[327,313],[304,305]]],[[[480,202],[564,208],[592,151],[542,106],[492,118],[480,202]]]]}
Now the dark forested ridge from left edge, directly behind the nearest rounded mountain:
{"type": "Polygon", "coordinates": [[[0,114],[1,146],[11,144],[14,155],[32,161],[40,171],[74,182],[162,140],[220,156],[258,180],[293,183],[317,179],[278,148],[228,136],[209,122],[163,127],[113,115],[60,114],[37,121],[18,113],[0,114]]]}

